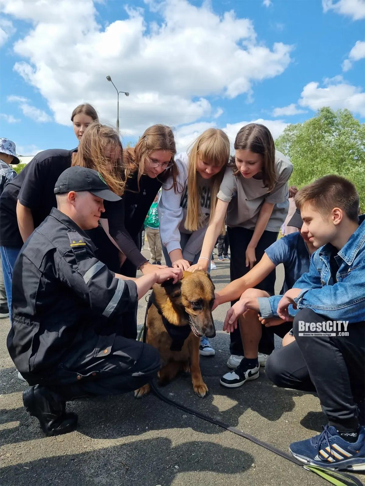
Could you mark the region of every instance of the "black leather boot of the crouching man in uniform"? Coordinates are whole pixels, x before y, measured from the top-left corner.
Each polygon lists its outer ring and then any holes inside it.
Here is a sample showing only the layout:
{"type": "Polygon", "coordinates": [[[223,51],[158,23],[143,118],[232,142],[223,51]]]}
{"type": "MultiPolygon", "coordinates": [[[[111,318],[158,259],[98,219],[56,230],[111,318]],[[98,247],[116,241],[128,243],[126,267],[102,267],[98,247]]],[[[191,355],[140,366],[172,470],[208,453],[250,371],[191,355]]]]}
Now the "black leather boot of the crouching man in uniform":
{"type": "Polygon", "coordinates": [[[23,403],[30,415],[37,417],[46,435],[67,434],[77,427],[77,415],[66,413],[66,402],[44,386],[30,386],[25,390],[23,403]]]}

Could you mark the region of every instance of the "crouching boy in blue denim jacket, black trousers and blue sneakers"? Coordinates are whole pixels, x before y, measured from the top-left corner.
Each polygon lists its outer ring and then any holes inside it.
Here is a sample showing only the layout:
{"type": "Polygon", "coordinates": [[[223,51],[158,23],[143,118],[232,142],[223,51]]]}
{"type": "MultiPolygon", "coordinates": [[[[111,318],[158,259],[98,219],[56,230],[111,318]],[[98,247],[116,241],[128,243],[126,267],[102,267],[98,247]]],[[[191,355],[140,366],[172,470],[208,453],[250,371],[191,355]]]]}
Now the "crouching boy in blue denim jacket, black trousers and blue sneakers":
{"type": "Polygon", "coordinates": [[[274,351],[266,373],[278,386],[316,391],[329,424],[322,434],[292,443],[290,451],[307,464],[365,470],[365,221],[358,216],[359,195],[347,179],[326,175],[302,188],[295,204],[301,231],[318,248],[309,272],[283,296],[242,295],[223,329],[236,327],[247,309],[285,320],[295,314],[295,341],[274,351]],[[291,360],[302,369],[300,380],[288,368],[291,360]]]}

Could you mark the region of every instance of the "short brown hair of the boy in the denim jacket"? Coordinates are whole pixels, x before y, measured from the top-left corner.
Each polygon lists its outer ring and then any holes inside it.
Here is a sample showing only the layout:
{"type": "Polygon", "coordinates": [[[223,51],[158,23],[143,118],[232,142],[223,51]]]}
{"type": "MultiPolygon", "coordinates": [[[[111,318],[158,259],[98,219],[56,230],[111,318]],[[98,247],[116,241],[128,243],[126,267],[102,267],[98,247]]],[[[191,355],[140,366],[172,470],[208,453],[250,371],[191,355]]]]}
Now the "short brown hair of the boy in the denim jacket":
{"type": "Polygon", "coordinates": [[[359,220],[360,198],[356,187],[339,175],[325,175],[303,187],[294,201],[298,209],[310,203],[323,216],[328,216],[333,208],[340,208],[351,221],[359,220]]]}

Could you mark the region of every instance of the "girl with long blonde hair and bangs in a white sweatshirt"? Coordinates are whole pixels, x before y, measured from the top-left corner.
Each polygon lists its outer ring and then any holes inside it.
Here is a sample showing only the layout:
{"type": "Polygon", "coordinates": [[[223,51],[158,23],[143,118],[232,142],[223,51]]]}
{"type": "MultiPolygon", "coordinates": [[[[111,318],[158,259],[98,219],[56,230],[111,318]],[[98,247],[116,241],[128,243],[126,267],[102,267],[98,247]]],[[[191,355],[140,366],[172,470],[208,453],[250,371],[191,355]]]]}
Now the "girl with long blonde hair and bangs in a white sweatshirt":
{"type": "MultiPolygon", "coordinates": [[[[166,265],[187,270],[198,262],[229,156],[229,139],[217,128],[205,130],[187,153],[175,156],[179,169],[176,189],[172,178],[167,179],[158,204],[166,265]]],[[[210,258],[207,260],[209,271],[210,258]]],[[[200,353],[215,354],[206,338],[201,338],[200,353]]]]}

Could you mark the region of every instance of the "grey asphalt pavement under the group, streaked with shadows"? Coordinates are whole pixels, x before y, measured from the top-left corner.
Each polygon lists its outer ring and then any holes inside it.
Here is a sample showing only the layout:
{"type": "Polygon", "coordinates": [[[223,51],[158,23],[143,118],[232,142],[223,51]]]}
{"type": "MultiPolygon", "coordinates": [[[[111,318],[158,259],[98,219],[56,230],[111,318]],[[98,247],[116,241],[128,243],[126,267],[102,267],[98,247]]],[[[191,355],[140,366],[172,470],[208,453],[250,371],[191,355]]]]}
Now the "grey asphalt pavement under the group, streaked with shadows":
{"type": "MultiPolygon", "coordinates": [[[[146,255],[149,253],[145,250],[146,255]]],[[[211,275],[217,289],[229,282],[229,262],[211,275]]],[[[276,290],[283,278],[279,268],[276,290]]],[[[144,320],[145,299],[138,312],[144,320]]],[[[201,357],[209,395],[194,395],[190,378],[161,388],[171,399],[215,417],[288,451],[292,441],[311,437],[326,423],[318,398],[275,387],[260,377],[237,389],[219,385],[228,371],[229,336],[222,332],[228,304],[214,311],[214,357],[201,357]]],[[[46,437],[22,404],[27,384],[6,349],[10,322],[0,321],[0,482],[2,486],[266,486],[328,485],[322,478],[219,427],[185,414],[150,394],[132,393],[68,403],[79,417],[71,434],[46,437]]],[[[280,340],[276,343],[280,346],[280,340]]]]}

